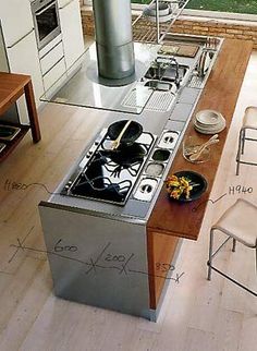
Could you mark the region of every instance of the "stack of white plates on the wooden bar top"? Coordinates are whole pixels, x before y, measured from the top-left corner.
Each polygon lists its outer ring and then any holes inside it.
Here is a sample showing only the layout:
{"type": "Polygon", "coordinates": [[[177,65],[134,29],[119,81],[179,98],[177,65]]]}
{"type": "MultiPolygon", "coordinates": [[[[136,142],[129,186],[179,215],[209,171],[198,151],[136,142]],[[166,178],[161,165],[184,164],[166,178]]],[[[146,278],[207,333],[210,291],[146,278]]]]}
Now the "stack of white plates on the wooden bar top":
{"type": "Polygon", "coordinates": [[[218,111],[203,110],[196,113],[194,126],[199,133],[216,134],[225,128],[225,119],[218,111]]]}

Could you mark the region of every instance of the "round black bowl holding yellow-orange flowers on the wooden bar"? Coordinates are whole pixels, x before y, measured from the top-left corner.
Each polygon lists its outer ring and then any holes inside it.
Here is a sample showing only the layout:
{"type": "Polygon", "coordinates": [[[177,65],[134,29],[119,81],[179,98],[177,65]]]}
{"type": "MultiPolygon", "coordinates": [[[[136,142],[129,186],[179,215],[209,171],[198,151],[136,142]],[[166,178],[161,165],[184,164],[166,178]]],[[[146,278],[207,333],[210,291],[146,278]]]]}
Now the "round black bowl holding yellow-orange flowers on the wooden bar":
{"type": "Polygon", "coordinates": [[[195,185],[192,189],[189,198],[186,198],[185,195],[183,194],[180,196],[180,198],[176,199],[176,198],[170,197],[170,194],[169,194],[169,197],[171,199],[174,199],[174,201],[178,201],[181,203],[188,203],[194,199],[198,199],[204,194],[204,192],[207,190],[207,180],[199,173],[196,173],[193,171],[180,171],[180,172],[174,173],[174,175],[176,175],[179,178],[184,177],[186,179],[189,179],[192,183],[195,183],[198,185],[195,185]]]}

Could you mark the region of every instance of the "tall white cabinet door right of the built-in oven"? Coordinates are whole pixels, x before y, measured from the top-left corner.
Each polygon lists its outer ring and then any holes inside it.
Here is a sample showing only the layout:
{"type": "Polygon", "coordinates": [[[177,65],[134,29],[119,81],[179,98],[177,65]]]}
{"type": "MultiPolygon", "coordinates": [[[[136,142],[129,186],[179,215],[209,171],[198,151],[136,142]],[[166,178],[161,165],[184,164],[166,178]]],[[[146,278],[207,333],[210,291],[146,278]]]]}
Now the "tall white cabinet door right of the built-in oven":
{"type": "Polygon", "coordinates": [[[84,39],[78,0],[62,0],[59,9],[66,69],[83,55],[84,39]]]}

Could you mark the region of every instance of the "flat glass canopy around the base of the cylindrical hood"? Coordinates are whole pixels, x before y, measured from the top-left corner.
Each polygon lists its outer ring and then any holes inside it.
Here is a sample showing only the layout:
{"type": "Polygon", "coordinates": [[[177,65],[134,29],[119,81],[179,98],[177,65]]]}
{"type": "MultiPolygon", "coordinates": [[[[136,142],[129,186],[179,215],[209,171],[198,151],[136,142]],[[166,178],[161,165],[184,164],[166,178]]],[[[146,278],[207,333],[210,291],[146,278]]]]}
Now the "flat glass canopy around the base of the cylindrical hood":
{"type": "Polygon", "coordinates": [[[44,99],[51,102],[82,106],[110,111],[140,113],[143,107],[122,105],[135,82],[146,73],[160,46],[135,43],[135,74],[124,80],[106,80],[98,75],[96,45],[79,59],[81,69],[56,94],[49,89],[44,99]],[[119,86],[117,86],[119,84],[119,86]]]}

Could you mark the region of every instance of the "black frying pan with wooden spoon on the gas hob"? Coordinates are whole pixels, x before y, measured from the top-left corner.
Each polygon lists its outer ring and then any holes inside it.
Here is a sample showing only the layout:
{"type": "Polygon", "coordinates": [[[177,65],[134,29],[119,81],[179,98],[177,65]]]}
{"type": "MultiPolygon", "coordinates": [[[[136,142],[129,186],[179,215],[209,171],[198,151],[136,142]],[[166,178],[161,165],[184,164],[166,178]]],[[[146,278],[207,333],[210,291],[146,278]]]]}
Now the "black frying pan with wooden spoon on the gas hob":
{"type": "MultiPolygon", "coordinates": [[[[109,125],[107,134],[112,141],[118,138],[127,120],[122,120],[109,125]]],[[[142,132],[143,126],[139,123],[132,121],[121,138],[121,145],[132,145],[137,140],[137,137],[139,137],[142,132]]]]}

